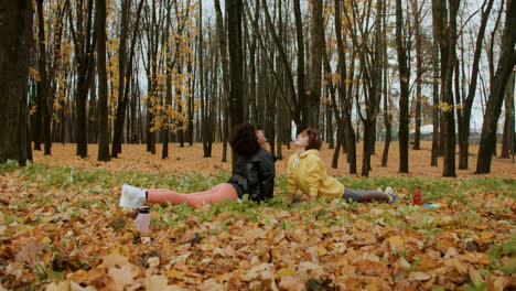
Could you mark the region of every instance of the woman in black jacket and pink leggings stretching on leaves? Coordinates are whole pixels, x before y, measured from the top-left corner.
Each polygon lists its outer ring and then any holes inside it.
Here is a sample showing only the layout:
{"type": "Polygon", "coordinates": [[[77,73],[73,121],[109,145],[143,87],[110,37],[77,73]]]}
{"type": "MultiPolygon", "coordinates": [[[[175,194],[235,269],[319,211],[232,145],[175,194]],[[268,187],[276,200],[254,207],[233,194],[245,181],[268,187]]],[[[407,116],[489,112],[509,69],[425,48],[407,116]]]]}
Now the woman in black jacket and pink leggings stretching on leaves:
{"type": "Polygon", "coordinates": [[[233,130],[229,144],[238,160],[233,165],[233,176],[227,183],[198,193],[178,193],[164,188],[142,190],[123,185],[120,207],[138,208],[146,203],[183,204],[191,206],[241,198],[248,194],[256,202],[272,198],[275,191],[275,158],[264,149],[267,143],[261,130],[254,125],[238,125],[233,130]]]}

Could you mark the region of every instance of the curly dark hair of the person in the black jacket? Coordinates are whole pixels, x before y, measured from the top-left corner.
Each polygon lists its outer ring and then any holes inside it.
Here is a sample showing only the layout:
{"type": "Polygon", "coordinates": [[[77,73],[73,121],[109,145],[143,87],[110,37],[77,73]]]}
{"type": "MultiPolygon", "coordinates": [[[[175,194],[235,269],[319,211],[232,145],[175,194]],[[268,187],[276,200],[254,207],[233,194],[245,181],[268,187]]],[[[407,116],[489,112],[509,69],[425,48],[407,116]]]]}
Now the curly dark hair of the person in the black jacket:
{"type": "Polygon", "coordinates": [[[236,125],[229,137],[232,149],[240,157],[250,157],[259,149],[256,127],[251,123],[236,125]]]}

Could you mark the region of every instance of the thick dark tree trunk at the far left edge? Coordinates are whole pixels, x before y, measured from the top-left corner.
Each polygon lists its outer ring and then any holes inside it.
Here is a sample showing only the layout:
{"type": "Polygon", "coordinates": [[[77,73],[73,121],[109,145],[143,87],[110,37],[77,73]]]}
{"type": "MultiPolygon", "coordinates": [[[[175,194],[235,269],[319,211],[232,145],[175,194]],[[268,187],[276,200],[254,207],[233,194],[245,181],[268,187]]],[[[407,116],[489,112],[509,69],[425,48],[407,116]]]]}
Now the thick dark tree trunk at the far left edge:
{"type": "Polygon", "coordinates": [[[32,2],[0,2],[0,163],[15,160],[25,165],[30,151],[28,140],[26,94],[32,47],[32,2]]]}

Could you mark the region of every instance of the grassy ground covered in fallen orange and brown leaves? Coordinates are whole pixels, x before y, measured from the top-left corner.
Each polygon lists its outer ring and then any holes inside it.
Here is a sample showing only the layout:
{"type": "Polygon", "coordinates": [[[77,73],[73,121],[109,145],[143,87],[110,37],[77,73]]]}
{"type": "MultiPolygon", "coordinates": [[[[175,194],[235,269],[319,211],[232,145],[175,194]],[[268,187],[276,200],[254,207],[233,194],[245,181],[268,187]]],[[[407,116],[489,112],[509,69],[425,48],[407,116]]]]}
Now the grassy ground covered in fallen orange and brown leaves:
{"type": "MultiPolygon", "coordinates": [[[[205,159],[198,144],[172,147],[165,161],[125,146],[120,159],[98,163],[94,147],[80,160],[72,144],[55,144],[25,168],[0,165],[0,290],[516,288],[516,175],[506,160],[490,175],[441,179],[429,151],[411,151],[413,172],[398,175],[393,151],[386,169],[373,159],[369,179],[330,171],[348,187],[390,185],[399,202],[295,205],[278,161],[271,202],[154,205],[151,233],[139,234],[136,214],[117,207],[123,183],[192,192],[229,177],[218,144],[205,159]],[[418,186],[440,207],[412,205],[418,186]]],[[[323,150],[327,165],[331,154],[323,150]]]]}

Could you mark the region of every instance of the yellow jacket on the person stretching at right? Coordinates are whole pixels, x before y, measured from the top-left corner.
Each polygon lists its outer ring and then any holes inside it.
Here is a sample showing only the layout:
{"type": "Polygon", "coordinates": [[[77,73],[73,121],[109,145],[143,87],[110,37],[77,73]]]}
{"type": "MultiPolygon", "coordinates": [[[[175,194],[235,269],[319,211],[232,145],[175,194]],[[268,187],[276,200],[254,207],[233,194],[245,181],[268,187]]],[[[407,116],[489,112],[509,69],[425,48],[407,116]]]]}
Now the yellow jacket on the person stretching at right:
{"type": "Polygon", "coordinates": [[[326,175],[326,166],[319,158],[318,150],[290,155],[287,174],[289,193],[295,193],[299,188],[311,198],[326,200],[340,198],[344,194],[344,185],[326,175]]]}

